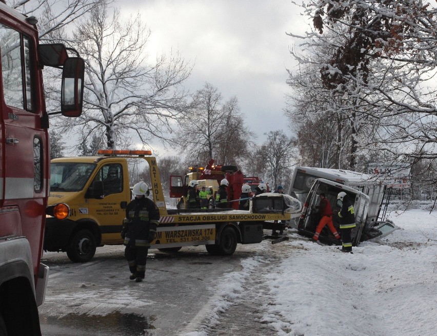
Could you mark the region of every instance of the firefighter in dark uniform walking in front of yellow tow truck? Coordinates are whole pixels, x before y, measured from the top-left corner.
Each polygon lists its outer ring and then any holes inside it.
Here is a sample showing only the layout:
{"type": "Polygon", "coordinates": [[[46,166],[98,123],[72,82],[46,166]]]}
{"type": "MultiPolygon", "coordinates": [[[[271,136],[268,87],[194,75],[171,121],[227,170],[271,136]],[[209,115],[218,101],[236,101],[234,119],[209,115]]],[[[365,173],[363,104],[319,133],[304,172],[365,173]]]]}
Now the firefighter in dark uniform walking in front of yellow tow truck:
{"type": "Polygon", "coordinates": [[[125,240],[125,257],[131,275],[129,279],[142,282],[146,273],[147,252],[155,239],[156,227],[160,222],[160,211],[155,203],[147,198],[149,188],[145,182],[133,186],[135,198],[126,207],[123,220],[122,238],[125,240]]]}

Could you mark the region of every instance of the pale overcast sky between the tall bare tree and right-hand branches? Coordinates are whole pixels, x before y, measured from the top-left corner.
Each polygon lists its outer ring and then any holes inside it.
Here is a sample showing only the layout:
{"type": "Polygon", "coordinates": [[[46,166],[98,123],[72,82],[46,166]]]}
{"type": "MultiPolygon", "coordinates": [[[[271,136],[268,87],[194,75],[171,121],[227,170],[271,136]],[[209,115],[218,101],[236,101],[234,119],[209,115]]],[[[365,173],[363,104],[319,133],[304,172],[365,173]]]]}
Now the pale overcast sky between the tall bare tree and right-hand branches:
{"type": "MultiPolygon", "coordinates": [[[[286,32],[302,31],[299,9],[288,1],[269,0],[118,0],[124,19],[138,10],[151,30],[148,52],[182,51],[194,64],[185,87],[191,92],[211,83],[224,100],[239,99],[246,125],[259,134],[289,134],[284,116],[292,66],[286,32]]],[[[306,27],[305,27],[306,28],[306,27]]],[[[163,154],[163,153],[162,153],[163,154]]]]}

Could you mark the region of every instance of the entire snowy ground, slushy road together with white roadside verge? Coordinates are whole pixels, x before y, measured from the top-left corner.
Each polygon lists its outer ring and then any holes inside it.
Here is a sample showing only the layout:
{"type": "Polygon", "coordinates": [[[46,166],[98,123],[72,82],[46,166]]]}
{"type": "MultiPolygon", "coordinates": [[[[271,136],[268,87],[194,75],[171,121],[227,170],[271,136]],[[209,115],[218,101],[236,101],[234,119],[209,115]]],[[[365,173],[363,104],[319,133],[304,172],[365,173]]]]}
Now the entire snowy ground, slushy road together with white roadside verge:
{"type": "Polygon", "coordinates": [[[389,236],[354,254],[288,230],[289,241],[151,250],[148,282],[136,284],[123,247],[97,249],[91,263],[47,253],[51,267],[43,335],[433,336],[437,321],[437,216],[411,210],[389,236]]]}

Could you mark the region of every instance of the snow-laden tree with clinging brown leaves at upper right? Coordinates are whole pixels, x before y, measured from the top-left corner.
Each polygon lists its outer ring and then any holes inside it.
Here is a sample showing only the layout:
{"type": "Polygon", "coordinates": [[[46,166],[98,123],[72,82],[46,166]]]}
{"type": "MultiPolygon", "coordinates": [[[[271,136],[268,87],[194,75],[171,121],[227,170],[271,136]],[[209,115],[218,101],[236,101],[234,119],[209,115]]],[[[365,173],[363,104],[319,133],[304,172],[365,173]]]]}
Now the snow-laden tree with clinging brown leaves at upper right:
{"type": "Polygon", "coordinates": [[[359,163],[366,147],[387,152],[390,160],[405,153],[410,160],[437,158],[432,136],[437,10],[413,0],[322,0],[304,11],[315,30],[289,35],[302,41],[303,53],[317,47],[332,52],[327,59],[292,54],[301,66],[319,68],[319,87],[329,91],[336,111],[347,118],[349,167],[359,163]],[[366,132],[360,131],[363,123],[366,132]]]}

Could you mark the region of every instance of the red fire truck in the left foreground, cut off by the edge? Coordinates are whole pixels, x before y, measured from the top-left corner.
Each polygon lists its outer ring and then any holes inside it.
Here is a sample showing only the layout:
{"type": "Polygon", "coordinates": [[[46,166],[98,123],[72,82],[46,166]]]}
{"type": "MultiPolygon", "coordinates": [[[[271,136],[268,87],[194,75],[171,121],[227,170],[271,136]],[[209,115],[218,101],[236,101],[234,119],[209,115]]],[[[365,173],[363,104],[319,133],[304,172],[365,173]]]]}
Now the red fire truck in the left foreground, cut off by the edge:
{"type": "Polygon", "coordinates": [[[0,0],[1,335],[41,334],[37,306],[48,279],[48,267],[41,264],[45,219],[69,213],[66,204],[47,207],[49,114],[82,112],[84,60],[62,44],[39,44],[36,23],[0,0]],[[59,112],[46,111],[44,66],[63,71],[59,112]]]}

